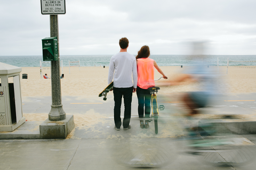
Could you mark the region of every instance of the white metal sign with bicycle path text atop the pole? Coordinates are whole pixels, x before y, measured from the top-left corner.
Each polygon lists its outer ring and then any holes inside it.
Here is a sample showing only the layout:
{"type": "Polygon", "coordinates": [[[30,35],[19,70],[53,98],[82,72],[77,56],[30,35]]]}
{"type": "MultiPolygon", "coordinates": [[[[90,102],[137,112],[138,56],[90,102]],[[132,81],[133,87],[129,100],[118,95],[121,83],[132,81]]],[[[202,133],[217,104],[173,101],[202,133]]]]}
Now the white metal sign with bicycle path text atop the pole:
{"type": "Polygon", "coordinates": [[[41,13],[50,15],[65,14],[65,0],[41,0],[41,13]]]}

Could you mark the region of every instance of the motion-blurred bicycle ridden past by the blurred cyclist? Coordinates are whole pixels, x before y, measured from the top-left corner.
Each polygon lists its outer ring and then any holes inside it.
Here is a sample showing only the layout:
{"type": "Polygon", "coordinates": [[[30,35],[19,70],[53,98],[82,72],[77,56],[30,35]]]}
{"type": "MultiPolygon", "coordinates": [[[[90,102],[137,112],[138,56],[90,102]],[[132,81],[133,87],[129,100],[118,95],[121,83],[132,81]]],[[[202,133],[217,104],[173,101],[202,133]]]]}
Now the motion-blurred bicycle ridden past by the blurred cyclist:
{"type": "MultiPolygon", "coordinates": [[[[166,109],[168,109],[167,106],[166,109]]],[[[151,118],[154,120],[154,116],[151,118]]],[[[256,152],[253,142],[249,140],[237,142],[237,139],[241,138],[239,134],[235,137],[234,134],[219,134],[220,125],[209,123],[209,120],[200,121],[198,124],[193,123],[194,118],[189,120],[191,122],[183,115],[175,119],[177,125],[182,126],[182,132],[187,133],[182,133],[181,137],[175,139],[169,138],[169,144],[162,143],[157,138],[133,139],[130,142],[127,140],[121,142],[118,139],[123,150],[120,151],[117,160],[129,167],[149,168],[166,166],[178,157],[177,154],[197,156],[201,162],[214,166],[243,165],[254,159],[256,152]],[[188,126],[184,126],[185,124],[188,126]]],[[[223,127],[227,128],[225,125],[223,127]]]]}

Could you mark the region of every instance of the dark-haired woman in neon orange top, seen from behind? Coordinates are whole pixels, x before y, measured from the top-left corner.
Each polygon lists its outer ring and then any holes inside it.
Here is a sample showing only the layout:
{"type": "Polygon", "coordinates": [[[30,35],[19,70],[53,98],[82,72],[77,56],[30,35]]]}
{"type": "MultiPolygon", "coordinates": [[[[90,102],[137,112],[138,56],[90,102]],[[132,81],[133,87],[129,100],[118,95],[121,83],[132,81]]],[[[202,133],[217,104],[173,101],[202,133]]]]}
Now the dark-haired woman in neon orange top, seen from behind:
{"type": "MultiPolygon", "coordinates": [[[[145,117],[149,117],[150,114],[150,92],[147,90],[150,87],[155,86],[154,81],[154,67],[156,70],[163,75],[164,79],[167,77],[163,71],[158,67],[156,62],[149,58],[150,51],[148,46],[142,46],[136,56],[137,60],[137,71],[138,71],[138,84],[137,84],[137,97],[138,97],[138,114],[139,118],[143,118],[144,105],[145,105],[145,117]]],[[[140,120],[140,128],[148,128],[149,121],[140,120]]]]}

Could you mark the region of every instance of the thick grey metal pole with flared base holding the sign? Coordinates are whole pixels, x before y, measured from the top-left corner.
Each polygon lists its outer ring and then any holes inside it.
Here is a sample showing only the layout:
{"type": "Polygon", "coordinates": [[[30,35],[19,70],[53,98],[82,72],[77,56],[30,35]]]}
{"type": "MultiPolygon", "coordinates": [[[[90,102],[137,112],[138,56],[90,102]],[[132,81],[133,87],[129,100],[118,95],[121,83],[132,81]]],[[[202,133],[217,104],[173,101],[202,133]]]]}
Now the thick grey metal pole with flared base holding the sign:
{"type": "Polygon", "coordinates": [[[49,113],[50,121],[62,121],[66,119],[66,113],[61,104],[60,87],[60,46],[59,46],[59,25],[58,15],[50,15],[50,34],[51,37],[58,39],[58,60],[51,61],[51,81],[52,81],[52,105],[49,113]]]}

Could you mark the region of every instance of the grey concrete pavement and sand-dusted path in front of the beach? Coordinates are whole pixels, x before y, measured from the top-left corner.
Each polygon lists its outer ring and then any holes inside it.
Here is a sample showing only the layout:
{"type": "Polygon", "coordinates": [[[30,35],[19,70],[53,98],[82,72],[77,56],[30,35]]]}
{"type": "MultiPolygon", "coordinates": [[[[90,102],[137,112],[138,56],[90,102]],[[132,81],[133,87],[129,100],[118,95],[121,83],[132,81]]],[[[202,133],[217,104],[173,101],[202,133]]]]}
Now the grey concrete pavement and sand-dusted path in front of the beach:
{"type": "MultiPolygon", "coordinates": [[[[207,115],[242,116],[253,121],[256,113],[256,93],[225,94],[212,99],[202,109],[207,115]]],[[[180,113],[186,108],[177,100],[177,95],[158,95],[158,104],[164,105],[158,119],[158,134],[154,123],[149,129],[141,129],[138,119],[138,100],[133,97],[131,129],[114,129],[114,100],[94,96],[62,96],[66,114],[73,114],[76,128],[67,139],[54,140],[0,140],[0,169],[133,169],[131,161],[145,159],[154,169],[255,169],[256,162],[243,166],[214,167],[204,164],[200,156],[186,154],[185,140],[180,140],[186,131],[181,128],[180,113]]],[[[51,109],[49,97],[22,97],[24,114],[47,114],[51,109]]],[[[124,112],[122,105],[121,113],[124,112]]],[[[41,122],[25,122],[17,131],[35,133],[41,122]]],[[[235,135],[246,143],[255,143],[256,135],[235,135]],[[246,142],[248,140],[248,142],[246,142]]],[[[251,146],[254,152],[254,145],[251,146]]],[[[145,164],[146,165],[146,164],[145,164]]],[[[146,169],[151,169],[147,167],[146,169]]]]}

